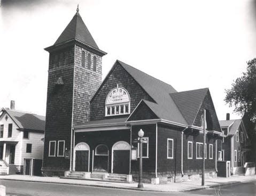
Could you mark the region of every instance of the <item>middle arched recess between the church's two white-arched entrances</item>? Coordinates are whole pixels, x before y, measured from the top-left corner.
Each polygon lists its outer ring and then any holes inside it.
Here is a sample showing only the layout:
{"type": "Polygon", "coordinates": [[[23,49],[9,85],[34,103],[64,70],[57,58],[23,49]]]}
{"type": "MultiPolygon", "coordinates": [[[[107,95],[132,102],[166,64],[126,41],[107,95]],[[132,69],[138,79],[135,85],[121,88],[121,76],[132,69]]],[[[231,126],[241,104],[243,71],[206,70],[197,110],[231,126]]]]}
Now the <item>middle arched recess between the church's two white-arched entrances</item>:
{"type": "Polygon", "coordinates": [[[108,172],[108,148],[104,144],[95,148],[94,171],[108,172]]]}

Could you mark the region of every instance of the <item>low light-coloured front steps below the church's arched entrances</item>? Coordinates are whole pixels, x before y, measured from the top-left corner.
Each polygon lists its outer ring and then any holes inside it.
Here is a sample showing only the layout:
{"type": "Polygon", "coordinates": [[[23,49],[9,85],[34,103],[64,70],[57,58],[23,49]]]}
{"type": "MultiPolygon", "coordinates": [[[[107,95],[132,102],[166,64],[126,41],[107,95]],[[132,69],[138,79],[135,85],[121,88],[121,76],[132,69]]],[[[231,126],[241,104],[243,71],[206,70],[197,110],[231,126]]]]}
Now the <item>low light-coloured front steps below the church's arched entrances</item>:
{"type": "Polygon", "coordinates": [[[131,183],[133,178],[131,175],[126,174],[108,174],[108,173],[90,173],[83,171],[66,171],[64,178],[72,179],[90,179],[96,181],[108,181],[108,182],[122,182],[122,183],[131,183]]]}

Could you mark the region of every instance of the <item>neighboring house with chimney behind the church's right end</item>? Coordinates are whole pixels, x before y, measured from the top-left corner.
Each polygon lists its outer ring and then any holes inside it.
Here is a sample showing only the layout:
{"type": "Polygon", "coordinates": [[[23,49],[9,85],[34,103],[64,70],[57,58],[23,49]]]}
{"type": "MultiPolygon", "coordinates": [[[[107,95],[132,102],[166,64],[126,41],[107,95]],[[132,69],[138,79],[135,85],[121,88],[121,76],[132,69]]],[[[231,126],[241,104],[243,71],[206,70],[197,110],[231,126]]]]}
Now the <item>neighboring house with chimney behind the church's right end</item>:
{"type": "Polygon", "coordinates": [[[223,132],[222,150],[219,151],[219,160],[230,161],[231,174],[235,174],[237,167],[244,167],[250,144],[246,128],[242,119],[220,120],[223,132]]]}

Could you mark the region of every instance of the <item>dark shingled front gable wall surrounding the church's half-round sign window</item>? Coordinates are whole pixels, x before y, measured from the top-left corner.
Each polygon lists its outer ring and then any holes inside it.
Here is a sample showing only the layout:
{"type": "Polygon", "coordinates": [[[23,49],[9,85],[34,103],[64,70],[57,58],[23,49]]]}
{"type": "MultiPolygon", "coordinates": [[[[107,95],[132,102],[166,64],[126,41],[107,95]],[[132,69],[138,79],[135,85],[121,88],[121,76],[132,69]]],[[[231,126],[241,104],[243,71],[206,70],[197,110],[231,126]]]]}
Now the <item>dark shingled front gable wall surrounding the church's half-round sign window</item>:
{"type": "MultiPolygon", "coordinates": [[[[100,87],[99,92],[95,95],[94,99],[91,100],[90,104],[90,120],[102,120],[108,118],[123,118],[125,116],[114,116],[105,117],[105,100],[107,94],[111,89],[117,87],[127,89],[130,94],[130,112],[132,112],[136,105],[142,99],[153,101],[151,97],[146,94],[144,89],[138,85],[138,83],[123,69],[119,64],[114,67],[107,80],[100,87]]],[[[128,117],[129,115],[127,115],[128,117]]]]}

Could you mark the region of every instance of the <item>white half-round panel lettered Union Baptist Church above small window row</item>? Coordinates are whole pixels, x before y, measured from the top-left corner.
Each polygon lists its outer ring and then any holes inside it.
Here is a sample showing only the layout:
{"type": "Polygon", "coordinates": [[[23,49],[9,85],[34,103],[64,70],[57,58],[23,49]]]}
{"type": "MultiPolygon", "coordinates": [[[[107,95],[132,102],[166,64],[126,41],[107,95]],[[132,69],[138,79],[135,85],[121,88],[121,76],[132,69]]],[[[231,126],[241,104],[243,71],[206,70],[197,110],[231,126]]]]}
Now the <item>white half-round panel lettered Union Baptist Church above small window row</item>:
{"type": "Polygon", "coordinates": [[[106,105],[125,103],[125,102],[129,102],[129,101],[130,101],[130,97],[129,97],[129,93],[127,92],[127,90],[125,88],[118,87],[118,85],[117,85],[117,88],[112,89],[108,93],[107,99],[106,99],[106,105]]]}

